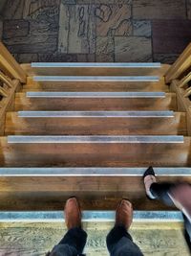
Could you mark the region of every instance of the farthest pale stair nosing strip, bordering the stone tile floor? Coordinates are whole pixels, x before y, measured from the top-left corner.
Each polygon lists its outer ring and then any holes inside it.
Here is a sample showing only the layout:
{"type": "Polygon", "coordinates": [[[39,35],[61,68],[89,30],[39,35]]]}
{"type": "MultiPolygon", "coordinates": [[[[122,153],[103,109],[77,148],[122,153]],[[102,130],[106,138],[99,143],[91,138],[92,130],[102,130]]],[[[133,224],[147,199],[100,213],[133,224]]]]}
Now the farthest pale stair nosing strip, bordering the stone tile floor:
{"type": "Polygon", "coordinates": [[[32,62],[33,68],[68,68],[68,67],[100,67],[100,68],[160,68],[160,62],[32,62]]]}

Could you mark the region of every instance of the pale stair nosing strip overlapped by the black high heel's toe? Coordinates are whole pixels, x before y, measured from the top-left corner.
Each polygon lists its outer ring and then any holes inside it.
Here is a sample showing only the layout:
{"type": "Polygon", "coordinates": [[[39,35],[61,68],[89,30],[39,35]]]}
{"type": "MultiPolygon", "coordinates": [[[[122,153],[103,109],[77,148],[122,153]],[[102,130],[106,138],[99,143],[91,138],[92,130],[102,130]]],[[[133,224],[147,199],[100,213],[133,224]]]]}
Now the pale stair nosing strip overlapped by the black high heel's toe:
{"type": "MultiPolygon", "coordinates": [[[[191,176],[191,168],[154,168],[156,176],[191,176]]],[[[65,177],[98,177],[98,176],[132,176],[142,177],[146,168],[0,168],[0,177],[13,176],[65,176],[65,177]]]]}

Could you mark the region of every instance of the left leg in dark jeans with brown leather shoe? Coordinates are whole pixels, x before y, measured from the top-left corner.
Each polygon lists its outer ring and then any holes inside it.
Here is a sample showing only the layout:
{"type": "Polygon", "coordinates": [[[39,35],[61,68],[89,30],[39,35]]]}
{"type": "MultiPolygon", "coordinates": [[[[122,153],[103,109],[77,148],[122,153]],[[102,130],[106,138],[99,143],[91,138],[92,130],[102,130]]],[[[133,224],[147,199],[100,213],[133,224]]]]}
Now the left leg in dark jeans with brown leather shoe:
{"type": "Polygon", "coordinates": [[[68,232],[59,244],[53,247],[50,256],[77,256],[83,252],[87,234],[81,228],[81,211],[76,198],[67,200],[65,220],[68,232]]]}

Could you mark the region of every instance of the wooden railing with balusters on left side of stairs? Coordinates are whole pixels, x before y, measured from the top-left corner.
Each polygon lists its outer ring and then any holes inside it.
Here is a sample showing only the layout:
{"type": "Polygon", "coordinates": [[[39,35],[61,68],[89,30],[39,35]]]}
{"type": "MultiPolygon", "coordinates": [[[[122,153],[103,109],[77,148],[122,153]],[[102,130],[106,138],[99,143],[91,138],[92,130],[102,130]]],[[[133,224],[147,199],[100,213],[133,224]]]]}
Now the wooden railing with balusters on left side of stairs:
{"type": "Polygon", "coordinates": [[[0,42],[0,135],[4,134],[6,112],[13,108],[14,93],[26,81],[25,71],[0,42]]]}

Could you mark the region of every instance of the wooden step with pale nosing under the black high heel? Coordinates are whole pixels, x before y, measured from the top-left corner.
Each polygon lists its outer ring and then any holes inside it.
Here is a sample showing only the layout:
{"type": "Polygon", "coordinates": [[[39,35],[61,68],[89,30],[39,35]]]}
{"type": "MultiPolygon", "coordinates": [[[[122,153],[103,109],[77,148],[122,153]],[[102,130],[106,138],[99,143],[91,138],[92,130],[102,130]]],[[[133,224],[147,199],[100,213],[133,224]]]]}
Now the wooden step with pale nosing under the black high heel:
{"type": "MultiPolygon", "coordinates": [[[[63,201],[74,195],[80,198],[83,209],[115,209],[121,198],[132,200],[135,209],[168,209],[145,197],[145,170],[146,167],[0,168],[0,209],[61,210],[63,201]]],[[[191,168],[155,167],[155,172],[158,181],[191,180],[191,168]]]]}

